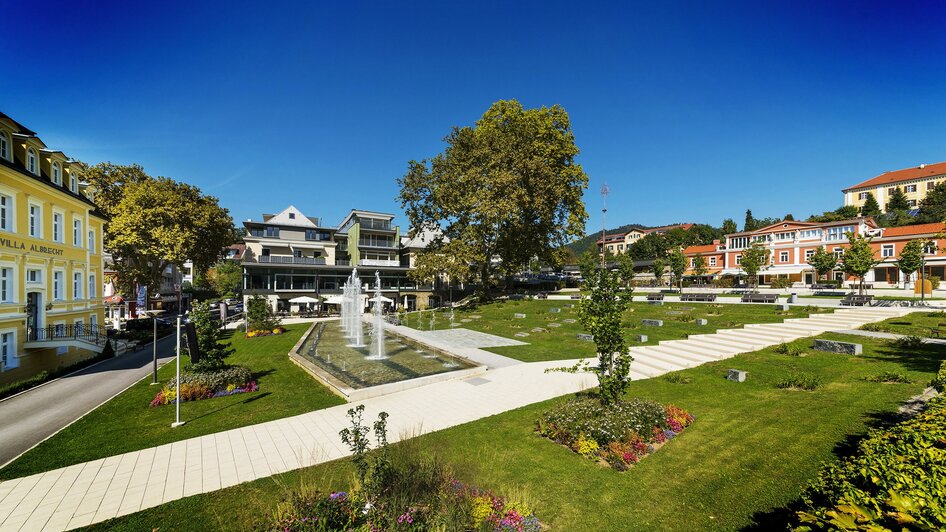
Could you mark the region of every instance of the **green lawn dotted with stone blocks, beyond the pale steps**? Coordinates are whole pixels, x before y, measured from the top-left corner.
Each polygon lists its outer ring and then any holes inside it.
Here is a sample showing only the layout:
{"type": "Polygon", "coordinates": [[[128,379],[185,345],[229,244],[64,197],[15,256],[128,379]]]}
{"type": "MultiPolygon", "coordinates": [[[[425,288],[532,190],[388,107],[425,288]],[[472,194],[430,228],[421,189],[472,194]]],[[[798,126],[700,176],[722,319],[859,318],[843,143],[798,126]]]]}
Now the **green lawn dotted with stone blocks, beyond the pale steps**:
{"type": "MultiPolygon", "coordinates": [[[[578,312],[575,301],[505,301],[482,305],[473,309],[457,309],[455,323],[461,327],[474,331],[503,336],[527,342],[529,345],[514,347],[488,348],[487,351],[522,360],[524,362],[539,362],[546,360],[568,360],[594,356],[594,344],[579,340],[577,334],[584,329],[577,322],[578,312]],[[554,314],[549,309],[559,308],[560,313],[554,314]],[[515,318],[515,314],[525,314],[524,319],[515,318]],[[473,319],[471,316],[480,316],[473,319]],[[464,323],[462,320],[467,319],[464,323]],[[565,323],[564,320],[576,320],[575,323],[565,323]],[[551,327],[549,324],[559,323],[560,327],[551,327]],[[546,332],[532,332],[533,328],[542,328],[546,332]],[[516,333],[528,333],[527,337],[516,337],[516,333]]],[[[775,305],[726,305],[707,303],[666,303],[664,305],[650,305],[647,303],[631,303],[630,309],[624,315],[624,333],[628,345],[656,345],[661,340],[677,340],[686,338],[688,334],[706,334],[716,329],[731,329],[741,327],[746,323],[772,323],[787,318],[804,318],[812,312],[831,312],[832,309],[820,307],[791,307],[791,310],[781,312],[775,305]],[[692,310],[685,310],[692,309],[692,310]],[[697,325],[697,318],[705,318],[707,325],[697,325]],[[641,324],[643,319],[663,320],[663,327],[648,327],[641,324]],[[647,335],[647,342],[638,342],[636,336],[647,335]]],[[[435,329],[449,329],[448,312],[437,312],[434,323],[435,329]]],[[[407,315],[405,325],[415,329],[430,329],[430,311],[414,312],[407,315]]]]}

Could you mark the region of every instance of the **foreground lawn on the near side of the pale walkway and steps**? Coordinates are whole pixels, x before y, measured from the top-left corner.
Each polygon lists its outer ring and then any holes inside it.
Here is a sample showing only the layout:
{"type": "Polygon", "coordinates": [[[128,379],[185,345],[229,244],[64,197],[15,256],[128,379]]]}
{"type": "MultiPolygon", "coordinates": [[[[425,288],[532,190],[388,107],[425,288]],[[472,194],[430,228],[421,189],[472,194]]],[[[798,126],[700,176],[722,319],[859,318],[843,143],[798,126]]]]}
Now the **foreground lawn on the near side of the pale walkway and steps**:
{"type": "MultiPolygon", "coordinates": [[[[634,382],[630,395],[677,404],[697,416],[679,437],[626,473],[579,457],[533,432],[553,401],[426,435],[410,442],[435,452],[458,476],[498,493],[525,497],[555,530],[784,529],[785,512],[822,462],[848,452],[874,424],[919,393],[946,357],[935,346],[910,352],[869,338],[825,335],[864,345],[853,357],[773,349],[681,372],[689,384],[664,378],[634,382]],[[748,380],[725,380],[728,368],[748,380]],[[917,384],[863,380],[884,371],[917,384]],[[793,373],[821,377],[812,391],[778,389],[793,373]]],[[[564,398],[554,401],[561,401],[564,398]]],[[[301,485],[350,487],[347,461],[198,495],[99,525],[105,530],[241,530],[265,523],[275,504],[301,485]]]]}

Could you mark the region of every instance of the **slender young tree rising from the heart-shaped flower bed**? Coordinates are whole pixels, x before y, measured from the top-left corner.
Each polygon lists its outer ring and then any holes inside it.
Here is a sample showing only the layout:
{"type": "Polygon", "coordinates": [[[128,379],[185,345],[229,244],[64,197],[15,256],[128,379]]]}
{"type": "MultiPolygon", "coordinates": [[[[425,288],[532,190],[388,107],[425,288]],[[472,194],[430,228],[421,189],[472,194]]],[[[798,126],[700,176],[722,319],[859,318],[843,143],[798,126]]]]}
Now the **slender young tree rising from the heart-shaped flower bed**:
{"type": "Polygon", "coordinates": [[[621,327],[628,299],[614,272],[597,268],[582,272],[591,295],[578,303],[578,319],[594,336],[598,353],[598,394],[605,406],[616,403],[630,384],[631,361],[621,327]]]}

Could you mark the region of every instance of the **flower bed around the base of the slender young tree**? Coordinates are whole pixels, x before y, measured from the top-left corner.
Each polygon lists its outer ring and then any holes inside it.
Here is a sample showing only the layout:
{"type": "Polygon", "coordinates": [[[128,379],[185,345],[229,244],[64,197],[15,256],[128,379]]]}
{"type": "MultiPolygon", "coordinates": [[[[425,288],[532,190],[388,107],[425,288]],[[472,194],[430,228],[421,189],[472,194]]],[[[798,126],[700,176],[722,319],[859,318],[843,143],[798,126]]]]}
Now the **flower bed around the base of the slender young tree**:
{"type": "Polygon", "coordinates": [[[625,471],[693,420],[674,405],[631,399],[602,407],[598,400],[583,397],[543,414],[536,431],[586,458],[625,471]]]}

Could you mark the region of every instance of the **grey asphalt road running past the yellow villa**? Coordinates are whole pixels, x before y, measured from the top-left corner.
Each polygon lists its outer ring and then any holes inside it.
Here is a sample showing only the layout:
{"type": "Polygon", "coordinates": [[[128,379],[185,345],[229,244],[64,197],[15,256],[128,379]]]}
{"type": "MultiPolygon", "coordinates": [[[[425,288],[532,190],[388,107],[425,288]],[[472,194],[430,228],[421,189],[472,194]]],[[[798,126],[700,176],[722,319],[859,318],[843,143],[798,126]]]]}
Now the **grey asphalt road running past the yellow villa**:
{"type": "MultiPolygon", "coordinates": [[[[0,401],[0,464],[151,374],[151,344],[0,401]]],[[[174,359],[174,337],[158,340],[158,364],[174,359]]],[[[157,386],[156,386],[157,388],[157,386]]]]}

